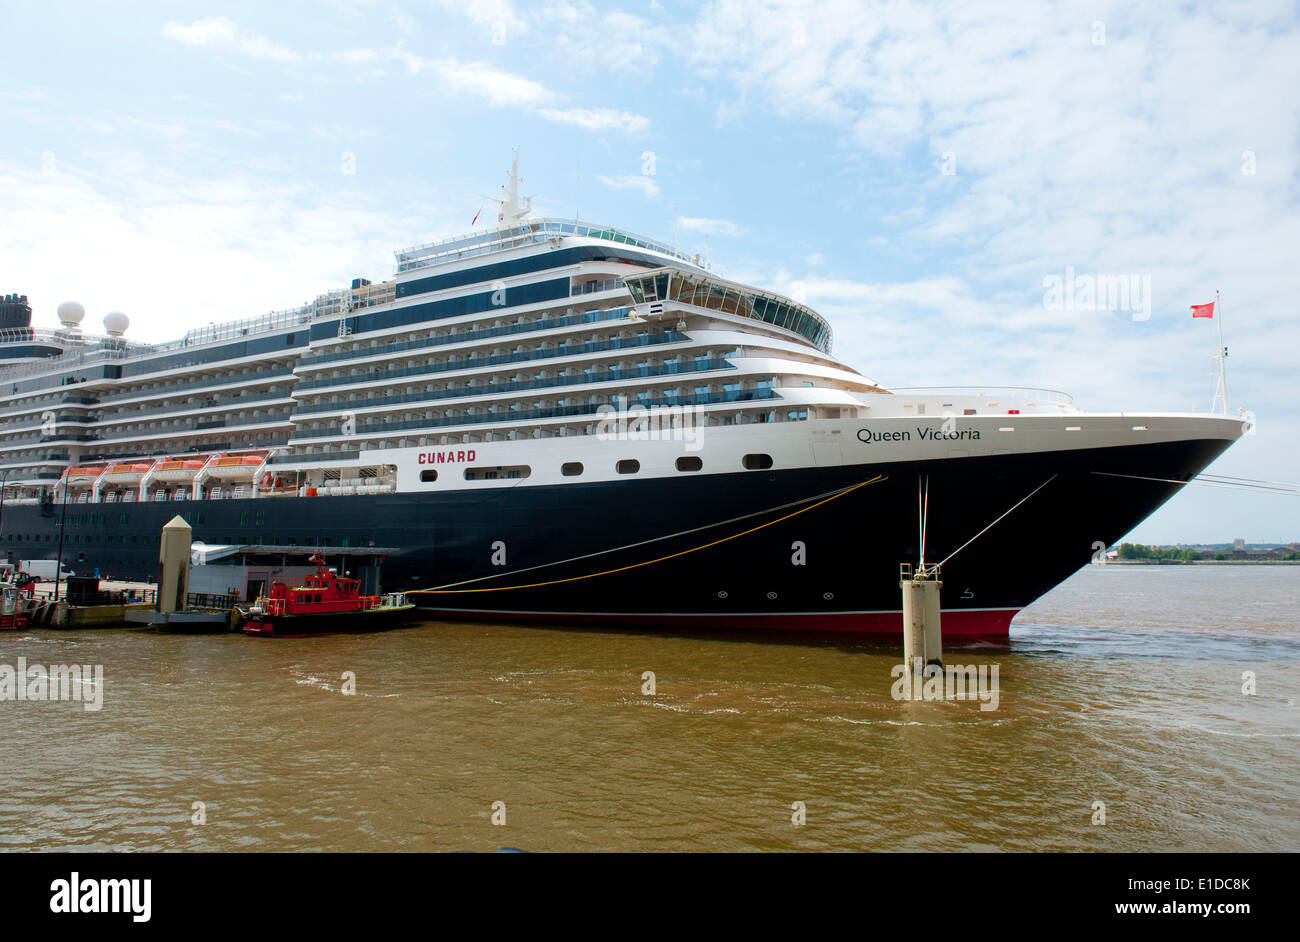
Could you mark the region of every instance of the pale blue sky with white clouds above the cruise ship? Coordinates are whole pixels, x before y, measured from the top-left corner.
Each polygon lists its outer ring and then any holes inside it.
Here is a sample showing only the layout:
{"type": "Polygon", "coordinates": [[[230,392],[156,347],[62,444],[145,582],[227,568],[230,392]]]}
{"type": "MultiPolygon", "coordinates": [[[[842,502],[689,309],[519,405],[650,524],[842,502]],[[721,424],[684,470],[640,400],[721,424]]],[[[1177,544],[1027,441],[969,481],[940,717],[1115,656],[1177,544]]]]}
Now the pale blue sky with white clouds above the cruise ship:
{"type": "MultiPolygon", "coordinates": [[[[885,386],[1204,412],[1222,291],[1254,431],[1213,472],[1300,481],[1292,3],[6,0],[0,35],[0,291],[38,326],[389,278],[517,149],[536,214],[803,300],[885,386]]],[[[1300,541],[1300,500],[1187,487],[1128,538],[1238,537],[1300,541]]]]}

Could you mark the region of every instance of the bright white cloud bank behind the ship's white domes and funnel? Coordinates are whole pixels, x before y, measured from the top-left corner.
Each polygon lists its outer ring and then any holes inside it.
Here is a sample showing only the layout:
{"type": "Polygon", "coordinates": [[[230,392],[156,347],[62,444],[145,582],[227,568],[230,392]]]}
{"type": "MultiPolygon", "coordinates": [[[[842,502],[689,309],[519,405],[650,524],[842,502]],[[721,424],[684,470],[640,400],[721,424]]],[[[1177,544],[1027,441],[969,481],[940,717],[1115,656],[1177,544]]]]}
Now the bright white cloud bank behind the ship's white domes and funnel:
{"type": "Polygon", "coordinates": [[[125,311],[142,342],[295,307],[356,274],[386,278],[393,247],[434,227],[428,209],[395,217],[354,192],[277,178],[187,179],[157,166],[96,177],[62,161],[48,174],[0,161],[0,257],[23,259],[22,291],[39,326],[75,299],[88,330],[125,311]],[[196,290],[213,272],[239,290],[196,290]]]}

